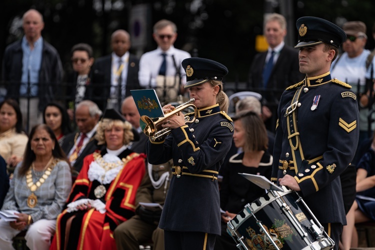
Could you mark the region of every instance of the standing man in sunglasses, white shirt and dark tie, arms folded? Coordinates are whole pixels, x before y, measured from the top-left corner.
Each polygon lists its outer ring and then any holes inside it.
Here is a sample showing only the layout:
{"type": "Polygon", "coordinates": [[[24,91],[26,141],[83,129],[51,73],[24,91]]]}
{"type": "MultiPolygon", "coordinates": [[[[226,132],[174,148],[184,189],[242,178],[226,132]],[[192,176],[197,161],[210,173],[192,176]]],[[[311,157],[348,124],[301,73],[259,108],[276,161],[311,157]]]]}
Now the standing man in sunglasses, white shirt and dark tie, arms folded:
{"type": "Polygon", "coordinates": [[[152,36],[157,48],[140,57],[139,84],[155,88],[161,102],[175,101],[177,94],[183,93],[183,85],[186,83],[186,73],[181,62],[191,56],[173,46],[177,38],[177,27],[172,21],[162,19],[156,22],[152,36]]]}

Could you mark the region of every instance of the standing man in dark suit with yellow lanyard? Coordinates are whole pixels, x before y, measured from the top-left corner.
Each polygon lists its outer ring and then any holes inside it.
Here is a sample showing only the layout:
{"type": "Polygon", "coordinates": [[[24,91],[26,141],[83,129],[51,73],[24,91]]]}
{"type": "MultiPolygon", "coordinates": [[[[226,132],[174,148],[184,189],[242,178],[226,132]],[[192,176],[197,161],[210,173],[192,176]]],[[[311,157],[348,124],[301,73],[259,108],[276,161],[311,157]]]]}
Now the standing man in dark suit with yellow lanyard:
{"type": "Polygon", "coordinates": [[[101,110],[120,110],[121,101],[130,95],[130,89],[139,89],[138,58],[129,53],[130,35],[123,29],[111,35],[112,53],[99,57],[93,65],[93,76],[104,82],[92,82],[92,100],[101,110]]]}

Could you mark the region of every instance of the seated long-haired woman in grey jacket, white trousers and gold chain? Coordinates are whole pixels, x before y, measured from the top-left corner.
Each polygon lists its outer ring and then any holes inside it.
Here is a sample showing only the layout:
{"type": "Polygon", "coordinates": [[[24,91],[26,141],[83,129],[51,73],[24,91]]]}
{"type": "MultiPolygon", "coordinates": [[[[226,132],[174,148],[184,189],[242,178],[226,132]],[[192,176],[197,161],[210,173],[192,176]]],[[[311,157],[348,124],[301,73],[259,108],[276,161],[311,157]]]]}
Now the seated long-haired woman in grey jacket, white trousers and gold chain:
{"type": "Polygon", "coordinates": [[[56,217],[71,188],[70,166],[53,131],[39,124],[29,138],[1,208],[18,215],[15,221],[0,220],[1,249],[13,249],[12,238],[21,230],[27,230],[28,248],[48,249],[56,217]]]}

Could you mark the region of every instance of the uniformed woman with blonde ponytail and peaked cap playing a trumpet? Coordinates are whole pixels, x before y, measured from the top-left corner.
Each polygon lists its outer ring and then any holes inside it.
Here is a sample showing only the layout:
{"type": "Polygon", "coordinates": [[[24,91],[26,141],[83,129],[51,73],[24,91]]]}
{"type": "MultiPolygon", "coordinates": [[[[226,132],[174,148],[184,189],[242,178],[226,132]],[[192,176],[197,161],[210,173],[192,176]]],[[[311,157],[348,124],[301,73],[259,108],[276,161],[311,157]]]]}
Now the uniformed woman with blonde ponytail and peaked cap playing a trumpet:
{"type": "MultiPolygon", "coordinates": [[[[233,134],[222,85],[228,70],[216,61],[196,57],[184,59],[182,66],[184,87],[195,99],[198,115],[186,124],[184,115],[170,115],[162,127],[171,128],[171,133],[147,141],[147,158],[151,164],[172,158],[174,164],[159,222],[165,249],[213,249],[215,235],[220,234],[217,174],[233,134]]],[[[173,108],[167,104],[163,111],[173,108]]]]}

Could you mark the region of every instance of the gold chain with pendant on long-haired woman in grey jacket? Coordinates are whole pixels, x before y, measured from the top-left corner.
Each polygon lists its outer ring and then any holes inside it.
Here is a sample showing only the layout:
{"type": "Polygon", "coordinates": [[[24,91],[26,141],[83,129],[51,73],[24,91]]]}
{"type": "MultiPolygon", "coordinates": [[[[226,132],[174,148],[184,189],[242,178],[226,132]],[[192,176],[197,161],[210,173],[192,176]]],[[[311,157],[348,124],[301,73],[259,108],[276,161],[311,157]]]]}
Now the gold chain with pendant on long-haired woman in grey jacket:
{"type": "Polygon", "coordinates": [[[54,157],[52,156],[44,167],[44,169],[46,169],[46,170],[44,171],[42,176],[39,178],[39,180],[36,181],[35,183],[32,181],[32,174],[31,174],[31,168],[32,168],[32,170],[34,170],[34,163],[31,164],[31,167],[26,172],[26,184],[27,184],[27,187],[30,188],[30,191],[31,191],[31,194],[27,198],[27,206],[28,207],[32,208],[32,207],[36,206],[38,199],[37,199],[36,195],[34,194],[34,191],[39,186],[41,186],[41,184],[43,184],[44,181],[48,178],[48,176],[52,172],[53,167],[56,165],[57,162],[58,162],[58,159],[54,159],[54,157]],[[52,160],[53,160],[53,162],[52,162],[52,160]]]}

